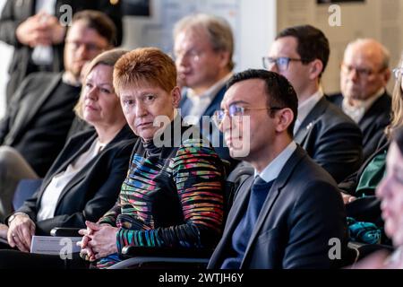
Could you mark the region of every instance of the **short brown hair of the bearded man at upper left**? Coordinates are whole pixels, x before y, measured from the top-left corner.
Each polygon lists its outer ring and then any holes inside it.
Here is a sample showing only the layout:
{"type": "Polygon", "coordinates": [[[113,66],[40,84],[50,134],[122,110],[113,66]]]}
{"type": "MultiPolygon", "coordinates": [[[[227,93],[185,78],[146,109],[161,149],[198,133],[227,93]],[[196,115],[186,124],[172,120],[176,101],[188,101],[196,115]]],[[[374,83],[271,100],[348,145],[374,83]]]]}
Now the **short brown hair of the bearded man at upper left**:
{"type": "Polygon", "coordinates": [[[116,25],[106,13],[82,10],[73,15],[72,24],[77,21],[84,22],[87,28],[96,30],[111,46],[116,46],[116,25]]]}

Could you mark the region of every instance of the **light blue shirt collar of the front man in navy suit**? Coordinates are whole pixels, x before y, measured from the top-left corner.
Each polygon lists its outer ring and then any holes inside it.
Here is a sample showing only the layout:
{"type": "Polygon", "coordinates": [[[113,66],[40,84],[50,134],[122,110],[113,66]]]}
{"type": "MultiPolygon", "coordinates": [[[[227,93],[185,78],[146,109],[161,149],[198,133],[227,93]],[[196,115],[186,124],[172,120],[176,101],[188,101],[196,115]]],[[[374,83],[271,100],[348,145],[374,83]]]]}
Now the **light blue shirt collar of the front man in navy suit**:
{"type": "Polygon", "coordinates": [[[279,155],[262,170],[259,174],[257,170],[254,170],[254,176],[259,175],[264,181],[270,182],[271,180],[278,178],[280,171],[286,165],[286,162],[291,157],[293,152],[296,151],[296,142],[291,142],[287,147],[279,153],[279,155]]]}

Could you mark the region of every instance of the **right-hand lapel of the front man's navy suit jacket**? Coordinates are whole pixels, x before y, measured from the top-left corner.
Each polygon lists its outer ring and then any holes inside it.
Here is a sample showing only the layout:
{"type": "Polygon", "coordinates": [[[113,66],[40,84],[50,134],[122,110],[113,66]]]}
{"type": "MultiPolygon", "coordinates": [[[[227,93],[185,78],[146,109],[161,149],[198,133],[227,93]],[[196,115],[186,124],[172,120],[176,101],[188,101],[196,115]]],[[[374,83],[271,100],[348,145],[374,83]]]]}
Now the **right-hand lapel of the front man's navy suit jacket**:
{"type": "Polygon", "coordinates": [[[287,182],[291,177],[293,170],[296,168],[298,162],[304,158],[305,154],[306,153],[304,152],[304,150],[300,146],[297,146],[296,151],[293,152],[291,157],[284,165],[284,168],[280,171],[279,178],[275,179],[273,186],[270,188],[269,195],[264,201],[261,213],[259,213],[259,217],[253,228],[251,238],[249,239],[248,246],[246,247],[246,250],[244,252],[244,259],[242,261],[241,268],[243,268],[244,263],[247,262],[248,257],[251,256],[250,251],[255,246],[255,240],[261,235],[262,226],[266,222],[267,217],[270,216],[271,207],[279,197],[281,189],[287,185],[287,182]]]}

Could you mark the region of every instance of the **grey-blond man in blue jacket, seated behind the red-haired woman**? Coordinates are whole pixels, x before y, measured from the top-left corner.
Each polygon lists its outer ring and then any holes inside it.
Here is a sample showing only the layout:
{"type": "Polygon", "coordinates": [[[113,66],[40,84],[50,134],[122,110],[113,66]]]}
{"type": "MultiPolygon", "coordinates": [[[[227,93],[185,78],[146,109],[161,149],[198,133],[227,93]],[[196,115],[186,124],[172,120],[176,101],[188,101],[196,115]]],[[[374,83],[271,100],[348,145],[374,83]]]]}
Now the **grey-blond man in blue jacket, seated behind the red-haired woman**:
{"type": "Polygon", "coordinates": [[[184,122],[201,127],[223,160],[232,166],[222,134],[210,118],[219,109],[234,62],[234,37],[226,20],[213,15],[184,17],[174,28],[178,83],[184,86],[180,102],[184,122]]]}

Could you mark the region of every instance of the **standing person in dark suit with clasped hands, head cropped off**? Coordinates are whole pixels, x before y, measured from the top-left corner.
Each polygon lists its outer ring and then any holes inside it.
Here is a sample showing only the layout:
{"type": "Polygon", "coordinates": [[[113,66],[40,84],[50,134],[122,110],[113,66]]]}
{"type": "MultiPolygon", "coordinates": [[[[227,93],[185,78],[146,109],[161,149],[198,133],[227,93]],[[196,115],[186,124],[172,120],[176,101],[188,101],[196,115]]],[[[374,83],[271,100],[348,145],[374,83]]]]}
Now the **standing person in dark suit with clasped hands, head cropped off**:
{"type": "Polygon", "coordinates": [[[72,13],[82,10],[98,10],[106,13],[116,25],[116,46],[122,42],[121,1],[109,0],[8,0],[0,18],[0,40],[14,48],[7,83],[7,104],[22,80],[30,73],[64,69],[63,51],[65,26],[68,20],[64,5],[72,13]],[[60,22],[59,22],[60,20],[60,22]],[[46,47],[46,48],[44,48],[46,47]]]}

